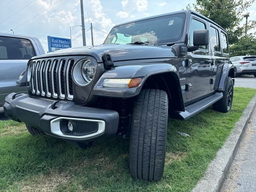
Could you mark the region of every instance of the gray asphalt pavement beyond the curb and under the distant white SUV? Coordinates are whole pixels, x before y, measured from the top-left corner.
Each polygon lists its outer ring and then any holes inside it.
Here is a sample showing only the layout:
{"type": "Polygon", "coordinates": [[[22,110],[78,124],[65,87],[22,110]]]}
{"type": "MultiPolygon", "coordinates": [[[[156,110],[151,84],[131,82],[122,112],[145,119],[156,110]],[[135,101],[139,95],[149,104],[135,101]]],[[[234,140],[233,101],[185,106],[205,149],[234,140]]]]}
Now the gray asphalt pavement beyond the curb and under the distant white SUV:
{"type": "MultiPolygon", "coordinates": [[[[254,76],[240,76],[235,86],[256,88],[254,76]]],[[[221,192],[256,192],[256,110],[244,132],[221,192]]]]}

